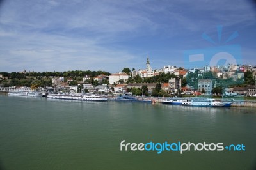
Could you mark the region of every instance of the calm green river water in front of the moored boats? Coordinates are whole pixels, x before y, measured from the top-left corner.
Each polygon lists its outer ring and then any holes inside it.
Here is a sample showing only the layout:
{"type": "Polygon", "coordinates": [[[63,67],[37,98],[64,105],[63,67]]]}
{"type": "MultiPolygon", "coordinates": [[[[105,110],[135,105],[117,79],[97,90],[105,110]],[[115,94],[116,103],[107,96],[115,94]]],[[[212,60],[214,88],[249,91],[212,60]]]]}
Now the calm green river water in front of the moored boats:
{"type": "Polygon", "coordinates": [[[0,95],[0,169],[255,169],[254,108],[0,95]],[[120,151],[120,143],[243,144],[231,151],[120,151]]]}

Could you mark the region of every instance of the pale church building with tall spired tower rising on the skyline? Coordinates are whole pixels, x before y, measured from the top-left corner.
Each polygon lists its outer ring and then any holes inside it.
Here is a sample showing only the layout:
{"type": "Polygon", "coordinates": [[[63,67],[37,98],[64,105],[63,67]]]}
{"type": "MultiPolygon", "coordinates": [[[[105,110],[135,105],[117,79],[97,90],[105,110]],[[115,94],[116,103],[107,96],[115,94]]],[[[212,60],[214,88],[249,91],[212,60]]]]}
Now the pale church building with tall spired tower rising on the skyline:
{"type": "Polygon", "coordinates": [[[147,58],[147,63],[146,63],[146,69],[145,70],[139,69],[138,71],[136,71],[136,70],[132,71],[132,77],[135,77],[136,75],[139,75],[142,78],[153,77],[153,76],[159,75],[159,71],[152,70],[152,68],[150,66],[149,58],[147,58]]]}

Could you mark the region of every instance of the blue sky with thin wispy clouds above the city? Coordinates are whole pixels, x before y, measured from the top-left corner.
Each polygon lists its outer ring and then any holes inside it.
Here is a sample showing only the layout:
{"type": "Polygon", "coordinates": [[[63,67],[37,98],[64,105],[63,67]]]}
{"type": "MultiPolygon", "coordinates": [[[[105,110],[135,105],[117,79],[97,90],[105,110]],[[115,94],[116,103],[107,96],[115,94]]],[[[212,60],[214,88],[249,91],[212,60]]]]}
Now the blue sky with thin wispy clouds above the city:
{"type": "Polygon", "coordinates": [[[253,2],[0,1],[0,72],[256,65],[253,2]]]}

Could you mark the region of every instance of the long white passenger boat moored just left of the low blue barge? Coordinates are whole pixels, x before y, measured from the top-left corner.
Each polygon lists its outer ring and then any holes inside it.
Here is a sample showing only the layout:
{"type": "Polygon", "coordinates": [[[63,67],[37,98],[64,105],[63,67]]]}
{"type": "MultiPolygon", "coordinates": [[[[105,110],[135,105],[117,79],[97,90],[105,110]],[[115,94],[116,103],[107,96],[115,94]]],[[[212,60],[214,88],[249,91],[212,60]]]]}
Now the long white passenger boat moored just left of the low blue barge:
{"type": "Polygon", "coordinates": [[[83,100],[83,101],[95,101],[95,102],[104,102],[107,101],[108,98],[100,95],[92,95],[89,93],[81,94],[81,93],[58,93],[58,94],[48,94],[47,98],[53,99],[62,99],[62,100],[83,100]]]}

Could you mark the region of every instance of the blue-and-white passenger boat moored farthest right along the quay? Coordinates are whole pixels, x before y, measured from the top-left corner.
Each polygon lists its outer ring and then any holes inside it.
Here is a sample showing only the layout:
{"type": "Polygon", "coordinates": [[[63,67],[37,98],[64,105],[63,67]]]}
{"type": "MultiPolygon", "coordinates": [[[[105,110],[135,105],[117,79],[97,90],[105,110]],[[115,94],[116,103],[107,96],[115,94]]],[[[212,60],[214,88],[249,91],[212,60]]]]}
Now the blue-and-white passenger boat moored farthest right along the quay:
{"type": "Polygon", "coordinates": [[[221,102],[213,98],[192,97],[182,100],[181,105],[197,106],[197,107],[230,107],[232,102],[221,102]]]}

